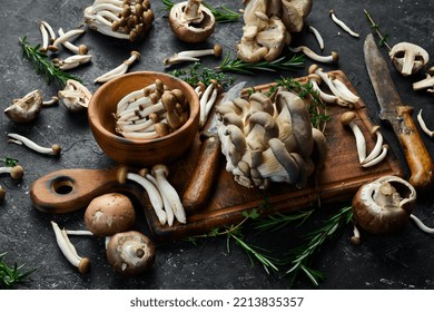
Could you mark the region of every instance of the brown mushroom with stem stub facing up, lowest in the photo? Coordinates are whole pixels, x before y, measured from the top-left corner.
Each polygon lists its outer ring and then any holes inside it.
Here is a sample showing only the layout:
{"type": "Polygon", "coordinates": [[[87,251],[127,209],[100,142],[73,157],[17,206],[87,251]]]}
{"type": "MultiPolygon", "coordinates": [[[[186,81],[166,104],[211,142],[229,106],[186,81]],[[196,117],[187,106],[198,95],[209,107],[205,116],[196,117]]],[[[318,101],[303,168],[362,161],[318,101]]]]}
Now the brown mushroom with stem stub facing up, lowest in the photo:
{"type": "Polygon", "coordinates": [[[154,243],[137,231],[117,233],[107,244],[107,260],[115,271],[122,275],[147,272],[152,266],[155,256],[154,243]]]}

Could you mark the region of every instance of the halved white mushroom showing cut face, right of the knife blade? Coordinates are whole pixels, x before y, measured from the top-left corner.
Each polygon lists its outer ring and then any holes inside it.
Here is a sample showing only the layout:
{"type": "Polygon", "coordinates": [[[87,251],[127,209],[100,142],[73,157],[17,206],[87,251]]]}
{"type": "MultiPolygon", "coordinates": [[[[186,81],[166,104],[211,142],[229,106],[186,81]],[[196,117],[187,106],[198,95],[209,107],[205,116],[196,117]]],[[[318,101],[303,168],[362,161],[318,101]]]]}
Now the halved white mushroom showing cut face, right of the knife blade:
{"type": "Polygon", "coordinates": [[[430,55],[424,48],[410,42],[396,43],[388,55],[395,69],[403,76],[418,72],[430,60],[430,55]]]}

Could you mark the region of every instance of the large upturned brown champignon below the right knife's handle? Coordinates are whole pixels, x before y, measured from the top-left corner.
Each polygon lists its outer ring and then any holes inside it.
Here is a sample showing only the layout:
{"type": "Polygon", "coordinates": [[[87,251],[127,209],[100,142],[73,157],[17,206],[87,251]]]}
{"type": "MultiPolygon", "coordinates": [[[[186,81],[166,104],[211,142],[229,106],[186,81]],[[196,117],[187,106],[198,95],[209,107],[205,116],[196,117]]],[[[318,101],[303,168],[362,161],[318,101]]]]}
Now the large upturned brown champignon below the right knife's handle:
{"type": "Polygon", "coordinates": [[[410,220],[416,191],[405,179],[384,176],[363,185],[353,198],[354,221],[373,233],[393,233],[410,220]]]}

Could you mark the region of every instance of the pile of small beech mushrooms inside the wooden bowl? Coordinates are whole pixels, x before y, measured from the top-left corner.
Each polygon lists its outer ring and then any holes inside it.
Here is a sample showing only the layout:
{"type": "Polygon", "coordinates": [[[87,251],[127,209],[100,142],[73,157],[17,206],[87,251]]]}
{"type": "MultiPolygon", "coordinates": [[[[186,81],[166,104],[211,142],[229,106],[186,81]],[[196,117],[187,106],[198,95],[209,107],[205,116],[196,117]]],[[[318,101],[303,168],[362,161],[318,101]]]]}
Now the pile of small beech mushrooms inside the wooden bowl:
{"type": "Polygon", "coordinates": [[[152,139],[177,130],[188,117],[189,105],[181,90],[169,89],[157,79],[118,103],[116,131],[126,138],[152,139]]]}

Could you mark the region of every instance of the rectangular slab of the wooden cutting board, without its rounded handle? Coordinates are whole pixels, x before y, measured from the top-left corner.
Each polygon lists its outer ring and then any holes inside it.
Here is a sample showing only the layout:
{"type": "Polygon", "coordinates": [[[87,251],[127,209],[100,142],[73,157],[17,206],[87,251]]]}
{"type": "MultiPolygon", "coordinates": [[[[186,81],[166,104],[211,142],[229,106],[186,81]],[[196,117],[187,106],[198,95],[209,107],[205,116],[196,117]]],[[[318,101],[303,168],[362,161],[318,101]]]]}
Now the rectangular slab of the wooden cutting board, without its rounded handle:
{"type": "MultiPolygon", "coordinates": [[[[333,71],[355,94],[344,72],[333,71]]],[[[300,78],[303,80],[305,78],[300,78]]],[[[267,90],[269,85],[257,86],[256,90],[267,90]]],[[[352,130],[339,123],[339,117],[348,108],[331,106],[328,115],[332,121],[326,126],[325,136],[329,147],[327,160],[322,169],[317,183],[309,179],[307,187],[297,189],[286,183],[273,183],[268,189],[246,188],[238,185],[231,174],[225,170],[224,156],[220,157],[219,174],[206,207],[193,215],[188,215],[187,224],[174,224],[171,227],[161,226],[151,208],[145,206],[146,217],[154,234],[161,240],[177,240],[193,234],[206,233],[215,227],[238,223],[243,220],[243,212],[257,208],[263,214],[290,212],[318,202],[351,199],[357,189],[365,183],[385,175],[402,176],[402,168],[397,159],[389,154],[379,165],[372,168],[358,167],[355,138],[352,130]]],[[[367,144],[367,153],[375,145],[369,131],[373,127],[368,118],[365,104],[361,99],[354,111],[356,123],[361,127],[367,144]]],[[[169,181],[179,194],[183,194],[198,157],[200,140],[197,137],[191,149],[176,164],[170,166],[169,181]]]]}

